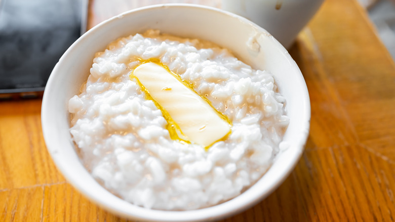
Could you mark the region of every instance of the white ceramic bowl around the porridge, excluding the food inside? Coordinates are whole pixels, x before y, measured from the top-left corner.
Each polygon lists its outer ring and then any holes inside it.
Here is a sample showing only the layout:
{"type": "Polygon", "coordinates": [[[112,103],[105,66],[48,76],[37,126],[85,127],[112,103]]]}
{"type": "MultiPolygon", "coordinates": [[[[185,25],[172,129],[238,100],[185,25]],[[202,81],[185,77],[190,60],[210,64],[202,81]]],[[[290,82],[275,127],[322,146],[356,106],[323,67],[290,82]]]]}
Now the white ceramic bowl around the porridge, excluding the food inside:
{"type": "Polygon", "coordinates": [[[61,57],[48,80],[42,105],[44,138],[56,166],[91,201],[120,216],[140,220],[213,220],[245,210],[274,191],[298,162],[309,131],[310,103],[298,66],[264,29],[249,20],[218,9],[195,5],[156,5],[113,17],[86,32],[61,57]],[[188,211],[163,211],[128,203],[105,190],[84,168],[69,133],[68,100],[87,80],[94,54],[122,36],[146,29],[212,41],[230,49],[254,68],[273,73],[287,99],[290,125],[284,141],[289,148],[250,189],[222,204],[188,211]],[[249,43],[249,44],[248,44],[249,43]]]}

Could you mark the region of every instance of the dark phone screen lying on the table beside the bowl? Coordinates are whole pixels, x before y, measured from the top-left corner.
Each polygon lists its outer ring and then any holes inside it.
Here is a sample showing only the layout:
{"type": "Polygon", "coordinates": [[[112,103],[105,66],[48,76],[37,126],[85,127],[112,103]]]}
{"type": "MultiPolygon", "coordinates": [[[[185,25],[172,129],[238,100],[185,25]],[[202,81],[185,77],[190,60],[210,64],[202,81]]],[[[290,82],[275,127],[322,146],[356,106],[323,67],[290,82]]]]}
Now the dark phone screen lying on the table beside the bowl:
{"type": "Polygon", "coordinates": [[[0,0],[0,93],[44,90],[82,33],[82,1],[0,0]]]}

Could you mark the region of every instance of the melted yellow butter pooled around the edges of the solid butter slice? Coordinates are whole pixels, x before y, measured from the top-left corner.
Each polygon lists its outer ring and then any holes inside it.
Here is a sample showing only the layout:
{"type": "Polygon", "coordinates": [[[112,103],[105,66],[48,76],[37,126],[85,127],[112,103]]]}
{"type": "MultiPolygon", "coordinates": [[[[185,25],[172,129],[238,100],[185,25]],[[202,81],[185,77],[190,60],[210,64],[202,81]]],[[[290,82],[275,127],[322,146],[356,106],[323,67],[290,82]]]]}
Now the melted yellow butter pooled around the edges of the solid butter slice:
{"type": "MultiPolygon", "coordinates": [[[[204,101],[206,101],[212,108],[213,110],[215,110],[215,112],[217,113],[217,115],[224,120],[227,124],[229,124],[229,132],[223,136],[222,138],[214,141],[213,143],[211,143],[208,146],[205,146],[206,151],[216,142],[218,141],[223,141],[226,140],[226,138],[230,135],[231,133],[231,126],[232,126],[232,122],[229,120],[229,118],[222,114],[221,112],[219,112],[216,108],[214,108],[214,106],[212,105],[211,101],[209,99],[207,99],[206,97],[200,95],[199,93],[197,93],[194,89],[193,89],[193,84],[189,83],[186,80],[182,80],[181,76],[178,75],[177,73],[171,71],[169,69],[168,66],[166,66],[165,64],[163,64],[159,59],[156,58],[151,58],[151,59],[147,59],[147,60],[143,60],[138,58],[138,60],[140,61],[140,64],[144,64],[144,63],[148,63],[148,62],[153,62],[156,63],[160,66],[162,66],[164,69],[166,69],[173,77],[175,77],[180,83],[182,83],[184,86],[186,86],[189,90],[193,91],[194,93],[196,93],[196,95],[199,95],[204,101]]],[[[170,114],[166,111],[165,108],[163,108],[159,102],[157,102],[155,99],[152,98],[152,96],[150,96],[150,93],[148,91],[148,89],[146,87],[144,87],[141,82],[133,75],[134,70],[130,73],[129,78],[132,81],[135,81],[140,87],[141,89],[145,92],[145,98],[149,99],[151,101],[153,101],[153,103],[155,104],[155,106],[161,110],[163,117],[165,118],[167,125],[166,125],[166,129],[169,131],[170,134],[170,138],[176,141],[179,141],[181,143],[191,143],[188,138],[182,133],[180,127],[178,126],[178,124],[173,120],[173,118],[170,116],[170,114]]],[[[172,90],[169,87],[164,87],[162,90],[172,90]]],[[[203,125],[200,130],[204,130],[206,127],[206,125],[203,125]]]]}

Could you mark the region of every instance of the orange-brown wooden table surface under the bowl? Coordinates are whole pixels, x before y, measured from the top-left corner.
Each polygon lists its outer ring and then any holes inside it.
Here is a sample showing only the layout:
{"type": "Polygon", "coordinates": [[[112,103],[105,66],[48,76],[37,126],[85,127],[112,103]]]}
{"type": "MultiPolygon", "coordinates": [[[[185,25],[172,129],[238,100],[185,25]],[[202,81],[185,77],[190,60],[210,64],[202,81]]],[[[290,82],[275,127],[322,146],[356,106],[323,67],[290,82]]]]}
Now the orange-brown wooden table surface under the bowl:
{"type": "MultiPolygon", "coordinates": [[[[88,27],[159,2],[165,1],[114,0],[111,6],[122,6],[115,9],[92,1],[88,27]]],[[[279,189],[226,221],[394,220],[395,64],[366,11],[356,0],[326,0],[290,53],[311,99],[305,152],[279,189]]],[[[1,221],[124,221],[58,172],[40,111],[41,99],[0,102],[1,221]]]]}

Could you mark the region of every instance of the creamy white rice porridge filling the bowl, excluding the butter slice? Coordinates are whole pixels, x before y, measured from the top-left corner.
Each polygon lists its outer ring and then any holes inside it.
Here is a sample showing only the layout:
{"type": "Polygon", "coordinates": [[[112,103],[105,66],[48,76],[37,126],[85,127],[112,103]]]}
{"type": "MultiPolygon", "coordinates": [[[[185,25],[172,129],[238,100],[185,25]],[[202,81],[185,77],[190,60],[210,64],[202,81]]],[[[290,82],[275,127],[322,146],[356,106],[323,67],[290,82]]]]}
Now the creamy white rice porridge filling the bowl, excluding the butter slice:
{"type": "Polygon", "coordinates": [[[289,123],[284,105],[270,73],[210,42],[148,30],[96,53],[68,110],[81,159],[107,190],[146,208],[189,210],[238,196],[268,170],[289,123]],[[165,108],[133,76],[147,61],[189,84],[226,117],[229,132],[210,145],[172,137],[165,108]]]}

